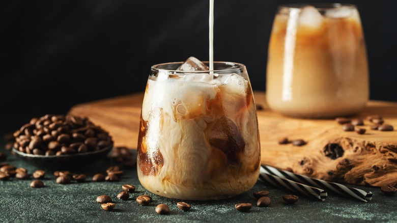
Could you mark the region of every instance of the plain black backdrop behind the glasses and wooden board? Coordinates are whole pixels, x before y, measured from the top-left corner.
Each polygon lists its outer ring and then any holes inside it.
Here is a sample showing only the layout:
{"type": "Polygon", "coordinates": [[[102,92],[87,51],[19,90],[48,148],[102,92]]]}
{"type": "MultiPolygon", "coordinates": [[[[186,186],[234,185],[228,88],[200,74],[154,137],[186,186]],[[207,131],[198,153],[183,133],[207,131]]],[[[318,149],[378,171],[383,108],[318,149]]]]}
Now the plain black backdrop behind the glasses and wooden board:
{"type": "MultiPolygon", "coordinates": [[[[215,60],[245,64],[252,88],[265,91],[276,8],[299,2],[215,0],[215,60]]],[[[397,101],[397,1],[339,2],[361,15],[371,99],[397,101]]],[[[151,65],[208,60],[208,14],[205,0],[3,1],[3,119],[66,114],[77,103],[143,91],[151,65]]]]}

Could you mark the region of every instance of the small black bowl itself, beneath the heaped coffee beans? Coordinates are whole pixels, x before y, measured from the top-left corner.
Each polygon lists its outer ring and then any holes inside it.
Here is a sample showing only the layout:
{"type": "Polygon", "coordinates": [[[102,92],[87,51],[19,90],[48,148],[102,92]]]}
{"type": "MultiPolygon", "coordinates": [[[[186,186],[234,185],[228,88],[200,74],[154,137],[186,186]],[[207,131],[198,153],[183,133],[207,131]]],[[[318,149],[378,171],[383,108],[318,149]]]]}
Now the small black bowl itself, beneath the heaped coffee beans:
{"type": "Polygon", "coordinates": [[[113,144],[101,150],[76,153],[72,155],[45,156],[22,153],[15,148],[12,151],[18,157],[41,168],[50,170],[73,170],[83,168],[104,158],[113,148],[113,144]]]}

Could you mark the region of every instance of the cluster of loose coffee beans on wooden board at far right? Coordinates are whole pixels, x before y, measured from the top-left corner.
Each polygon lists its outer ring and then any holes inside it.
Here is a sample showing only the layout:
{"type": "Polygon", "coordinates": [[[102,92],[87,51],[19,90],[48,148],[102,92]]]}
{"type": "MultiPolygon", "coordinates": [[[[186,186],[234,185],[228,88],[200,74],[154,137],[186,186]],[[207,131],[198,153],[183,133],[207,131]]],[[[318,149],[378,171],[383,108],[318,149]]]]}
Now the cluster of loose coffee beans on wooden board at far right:
{"type": "MultiPolygon", "coordinates": [[[[391,125],[384,124],[384,120],[379,115],[367,116],[365,118],[367,121],[371,122],[370,128],[372,130],[379,131],[393,131],[394,128],[391,125]]],[[[366,129],[359,126],[364,126],[364,120],[360,118],[344,118],[338,117],[335,119],[338,124],[342,125],[342,130],[344,131],[355,131],[357,134],[365,134],[366,129]]]]}

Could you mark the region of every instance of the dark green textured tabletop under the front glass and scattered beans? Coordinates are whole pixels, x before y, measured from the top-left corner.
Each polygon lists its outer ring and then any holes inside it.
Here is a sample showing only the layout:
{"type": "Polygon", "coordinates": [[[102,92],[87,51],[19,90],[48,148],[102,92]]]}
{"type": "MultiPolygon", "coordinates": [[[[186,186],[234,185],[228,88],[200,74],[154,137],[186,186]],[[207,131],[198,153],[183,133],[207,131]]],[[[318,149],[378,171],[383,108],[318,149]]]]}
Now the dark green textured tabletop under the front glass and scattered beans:
{"type": "MultiPolygon", "coordinates": [[[[38,168],[14,157],[7,163],[26,168],[32,174],[38,168]]],[[[250,191],[232,199],[221,201],[189,201],[191,211],[178,209],[178,200],[156,196],[145,190],[137,179],[136,169],[124,170],[125,175],[119,182],[91,182],[96,173],[104,173],[115,163],[102,160],[78,173],[87,174],[85,183],[61,185],[55,183],[52,171],[47,171],[43,180],[44,188],[31,188],[29,180],[12,178],[0,181],[0,222],[397,222],[397,196],[387,197],[378,188],[362,187],[371,190],[374,198],[368,203],[350,200],[329,194],[326,201],[316,201],[297,194],[300,199],[294,205],[285,204],[281,196],[294,194],[273,186],[258,182],[250,191]],[[116,198],[122,191],[121,185],[133,184],[136,192],[130,194],[128,201],[116,198]],[[253,206],[250,212],[238,212],[237,203],[256,204],[252,191],[269,190],[272,204],[267,208],[253,206]],[[135,202],[141,194],[151,194],[153,202],[149,206],[140,206],[135,202]],[[115,202],[113,211],[104,211],[95,200],[101,194],[108,194],[115,202]],[[169,206],[169,215],[158,215],[154,209],[157,204],[169,206]]]]}

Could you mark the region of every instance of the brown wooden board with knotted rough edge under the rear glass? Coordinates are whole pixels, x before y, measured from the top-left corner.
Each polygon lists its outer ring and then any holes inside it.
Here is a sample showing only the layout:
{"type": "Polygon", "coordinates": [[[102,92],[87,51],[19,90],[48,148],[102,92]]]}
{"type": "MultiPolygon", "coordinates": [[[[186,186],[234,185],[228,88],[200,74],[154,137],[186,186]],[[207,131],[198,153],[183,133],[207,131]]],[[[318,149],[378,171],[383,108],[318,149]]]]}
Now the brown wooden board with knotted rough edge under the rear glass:
{"type": "MultiPolygon", "coordinates": [[[[136,149],[144,93],[79,104],[69,114],[89,117],[110,132],[115,146],[136,149]]],[[[397,131],[370,129],[345,132],[333,119],[296,119],[270,110],[264,92],[254,92],[261,136],[262,163],[330,181],[381,186],[397,183],[397,131]],[[306,145],[279,145],[278,140],[303,139],[306,145]],[[328,156],[326,156],[328,154],[328,156]]],[[[370,101],[355,117],[380,115],[397,128],[397,103],[370,101]]]]}

